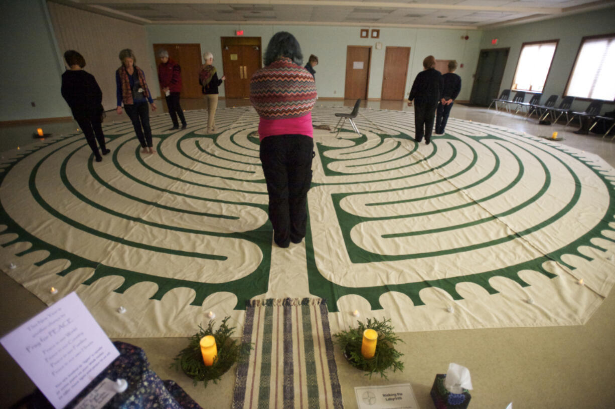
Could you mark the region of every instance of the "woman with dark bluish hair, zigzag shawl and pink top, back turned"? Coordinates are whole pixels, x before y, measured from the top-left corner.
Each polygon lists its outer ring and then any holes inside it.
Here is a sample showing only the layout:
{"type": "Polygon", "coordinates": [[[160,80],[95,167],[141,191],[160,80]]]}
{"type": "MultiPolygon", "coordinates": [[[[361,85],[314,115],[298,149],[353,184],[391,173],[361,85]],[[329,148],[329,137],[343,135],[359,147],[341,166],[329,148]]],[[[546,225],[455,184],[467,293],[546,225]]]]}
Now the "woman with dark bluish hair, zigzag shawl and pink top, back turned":
{"type": "Polygon", "coordinates": [[[250,80],[250,101],[260,115],[260,158],[269,193],[269,219],[280,247],[301,243],[312,182],[316,101],[314,77],[303,68],[295,37],[280,31],[267,46],[265,67],[250,80]]]}

